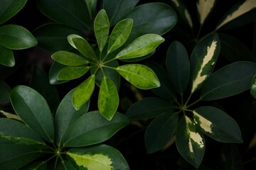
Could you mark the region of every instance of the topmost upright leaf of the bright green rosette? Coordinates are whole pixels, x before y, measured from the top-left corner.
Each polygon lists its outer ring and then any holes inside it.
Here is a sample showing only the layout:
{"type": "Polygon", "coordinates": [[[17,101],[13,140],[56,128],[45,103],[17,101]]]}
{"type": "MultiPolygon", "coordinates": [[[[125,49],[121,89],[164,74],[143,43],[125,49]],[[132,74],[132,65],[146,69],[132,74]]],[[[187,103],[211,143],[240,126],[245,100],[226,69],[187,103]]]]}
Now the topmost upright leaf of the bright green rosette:
{"type": "Polygon", "coordinates": [[[102,52],[107,43],[107,38],[110,32],[110,21],[107,18],[105,9],[102,9],[97,13],[94,22],[94,31],[97,45],[99,46],[100,52],[102,52]]]}

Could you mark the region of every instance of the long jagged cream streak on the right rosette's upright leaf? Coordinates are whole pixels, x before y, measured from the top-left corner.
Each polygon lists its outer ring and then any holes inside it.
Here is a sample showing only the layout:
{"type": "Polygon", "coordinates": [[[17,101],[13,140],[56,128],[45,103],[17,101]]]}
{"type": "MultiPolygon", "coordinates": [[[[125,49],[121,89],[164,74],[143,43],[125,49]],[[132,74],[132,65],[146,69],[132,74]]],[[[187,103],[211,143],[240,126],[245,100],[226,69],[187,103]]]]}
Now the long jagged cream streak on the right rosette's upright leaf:
{"type": "MultiPolygon", "coordinates": [[[[198,73],[196,74],[196,79],[193,79],[193,86],[191,89],[191,93],[193,93],[196,90],[196,88],[198,88],[198,86],[201,83],[203,83],[203,81],[205,81],[206,78],[208,77],[208,74],[202,75],[203,68],[206,66],[206,64],[208,64],[208,62],[210,62],[213,59],[216,46],[217,46],[217,41],[213,41],[210,47],[207,47],[207,54],[205,57],[203,57],[203,63],[201,64],[201,67],[198,73]]],[[[214,61],[212,62],[212,65],[213,64],[214,64],[214,61]]]]}

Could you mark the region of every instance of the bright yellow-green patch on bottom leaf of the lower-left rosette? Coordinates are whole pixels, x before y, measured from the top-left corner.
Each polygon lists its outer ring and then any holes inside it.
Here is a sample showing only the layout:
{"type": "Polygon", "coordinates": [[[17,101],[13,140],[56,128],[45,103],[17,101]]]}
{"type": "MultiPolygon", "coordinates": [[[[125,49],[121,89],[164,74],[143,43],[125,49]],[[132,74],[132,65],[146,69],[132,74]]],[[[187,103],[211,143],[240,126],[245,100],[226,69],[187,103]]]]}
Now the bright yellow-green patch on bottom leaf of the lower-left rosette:
{"type": "Polygon", "coordinates": [[[112,161],[109,157],[103,154],[75,154],[68,152],[68,155],[72,157],[78,166],[83,166],[88,170],[112,170],[112,161]]]}

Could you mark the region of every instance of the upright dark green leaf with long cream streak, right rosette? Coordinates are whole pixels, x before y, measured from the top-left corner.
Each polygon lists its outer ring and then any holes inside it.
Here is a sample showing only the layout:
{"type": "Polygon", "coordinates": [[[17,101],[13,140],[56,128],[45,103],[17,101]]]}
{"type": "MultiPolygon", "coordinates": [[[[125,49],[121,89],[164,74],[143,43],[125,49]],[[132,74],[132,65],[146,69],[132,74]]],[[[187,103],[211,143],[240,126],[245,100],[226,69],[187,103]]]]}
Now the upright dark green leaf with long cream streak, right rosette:
{"type": "Polygon", "coordinates": [[[220,53],[218,34],[207,35],[194,47],[191,54],[191,94],[201,88],[213,72],[220,53]]]}

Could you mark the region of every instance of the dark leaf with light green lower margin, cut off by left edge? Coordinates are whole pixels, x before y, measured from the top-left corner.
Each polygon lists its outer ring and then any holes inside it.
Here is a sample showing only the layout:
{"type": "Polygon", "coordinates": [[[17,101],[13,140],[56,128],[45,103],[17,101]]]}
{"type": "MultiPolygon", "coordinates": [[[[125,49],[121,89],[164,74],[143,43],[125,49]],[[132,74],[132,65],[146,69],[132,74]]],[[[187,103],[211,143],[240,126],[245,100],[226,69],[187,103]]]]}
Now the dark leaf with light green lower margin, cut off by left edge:
{"type": "Polygon", "coordinates": [[[45,145],[31,128],[16,120],[0,118],[0,138],[17,145],[45,145]]]}

